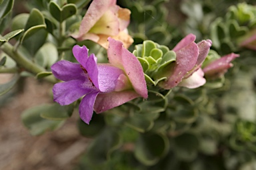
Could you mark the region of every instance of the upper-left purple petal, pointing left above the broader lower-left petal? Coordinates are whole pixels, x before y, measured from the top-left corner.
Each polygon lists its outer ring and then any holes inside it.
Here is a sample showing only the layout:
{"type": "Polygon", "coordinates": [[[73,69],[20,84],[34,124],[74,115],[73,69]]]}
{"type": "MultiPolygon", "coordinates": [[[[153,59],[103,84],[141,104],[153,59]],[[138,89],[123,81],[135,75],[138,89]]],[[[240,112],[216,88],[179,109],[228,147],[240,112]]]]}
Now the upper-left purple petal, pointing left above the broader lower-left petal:
{"type": "Polygon", "coordinates": [[[84,72],[80,64],[60,60],[51,66],[53,75],[59,80],[85,80],[84,72]]]}

